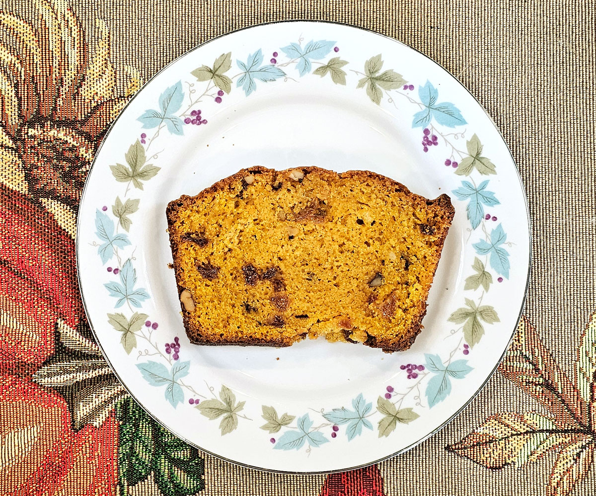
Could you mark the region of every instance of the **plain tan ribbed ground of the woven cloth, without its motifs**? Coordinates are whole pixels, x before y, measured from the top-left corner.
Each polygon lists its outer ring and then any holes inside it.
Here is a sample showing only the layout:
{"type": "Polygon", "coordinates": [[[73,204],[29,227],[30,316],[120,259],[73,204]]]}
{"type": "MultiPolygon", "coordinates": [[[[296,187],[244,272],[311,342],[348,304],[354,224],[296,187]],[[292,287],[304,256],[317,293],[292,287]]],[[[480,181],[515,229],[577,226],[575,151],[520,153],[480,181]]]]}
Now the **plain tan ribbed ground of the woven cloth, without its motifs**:
{"type": "MultiPolygon", "coordinates": [[[[0,1],[16,14],[32,0],[0,1]]],[[[316,19],[365,27],[433,58],[493,118],[522,174],[532,214],[532,279],[525,314],[566,372],[596,308],[596,8],[592,0],[390,2],[72,0],[93,38],[111,33],[117,67],[145,80],[188,49],[241,27],[316,19]]],[[[489,470],[448,453],[489,414],[542,411],[496,374],[449,426],[380,464],[387,495],[542,495],[554,456],[522,469],[489,470]]],[[[275,475],[205,456],[206,495],[317,495],[324,476],[275,475]]],[[[134,494],[157,494],[151,481],[134,494]]],[[[594,469],[575,492],[596,494],[594,469]]]]}

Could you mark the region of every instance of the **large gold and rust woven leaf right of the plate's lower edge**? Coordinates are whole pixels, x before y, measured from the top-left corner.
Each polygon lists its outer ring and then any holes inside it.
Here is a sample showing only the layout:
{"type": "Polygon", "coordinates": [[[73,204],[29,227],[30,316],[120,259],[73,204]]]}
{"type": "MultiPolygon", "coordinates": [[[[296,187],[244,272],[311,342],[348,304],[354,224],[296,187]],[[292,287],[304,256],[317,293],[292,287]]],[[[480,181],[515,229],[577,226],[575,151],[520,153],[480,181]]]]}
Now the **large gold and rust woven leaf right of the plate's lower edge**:
{"type": "Polygon", "coordinates": [[[517,327],[499,372],[541,401],[554,418],[530,412],[497,413],[446,449],[491,469],[508,464],[519,467],[557,453],[547,495],[569,496],[594,460],[596,313],[590,317],[578,350],[577,387],[560,370],[526,317],[517,327]]]}

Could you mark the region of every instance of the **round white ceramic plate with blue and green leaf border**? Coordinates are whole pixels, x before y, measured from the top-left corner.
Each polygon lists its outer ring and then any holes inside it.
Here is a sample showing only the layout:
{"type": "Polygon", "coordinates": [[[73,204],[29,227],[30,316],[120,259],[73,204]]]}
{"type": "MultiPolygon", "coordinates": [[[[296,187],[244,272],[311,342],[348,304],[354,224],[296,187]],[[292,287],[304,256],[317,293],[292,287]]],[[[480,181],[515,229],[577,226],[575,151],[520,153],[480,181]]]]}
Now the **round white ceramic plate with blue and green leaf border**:
{"type": "Polygon", "coordinates": [[[439,65],[354,27],[266,24],[188,52],[120,114],[83,192],[79,279],[105,357],[164,426],[236,463],[330,472],[412,447],[482,388],[523,306],[529,230],[507,145],[439,65]],[[367,169],[451,196],[410,350],[188,342],[166,204],[255,164],[367,169]]]}

